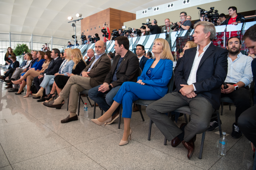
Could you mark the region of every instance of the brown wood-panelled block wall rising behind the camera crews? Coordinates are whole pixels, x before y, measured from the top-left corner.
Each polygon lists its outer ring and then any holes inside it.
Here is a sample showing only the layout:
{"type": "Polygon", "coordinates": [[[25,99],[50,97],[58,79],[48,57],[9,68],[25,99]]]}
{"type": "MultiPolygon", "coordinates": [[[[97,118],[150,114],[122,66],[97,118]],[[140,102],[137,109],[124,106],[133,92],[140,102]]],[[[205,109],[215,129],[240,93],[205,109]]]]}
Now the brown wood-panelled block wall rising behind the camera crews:
{"type": "MultiPolygon", "coordinates": [[[[81,33],[84,33],[86,37],[88,37],[88,35],[93,36],[97,33],[99,34],[100,40],[103,40],[101,30],[105,22],[106,24],[108,24],[110,33],[112,33],[112,30],[118,30],[119,28],[122,28],[124,22],[132,21],[135,19],[136,14],[124,12],[118,9],[108,8],[81,20],[81,33]]],[[[77,35],[77,37],[79,40],[79,44],[81,44],[80,35],[77,35]]]]}

